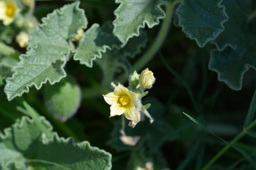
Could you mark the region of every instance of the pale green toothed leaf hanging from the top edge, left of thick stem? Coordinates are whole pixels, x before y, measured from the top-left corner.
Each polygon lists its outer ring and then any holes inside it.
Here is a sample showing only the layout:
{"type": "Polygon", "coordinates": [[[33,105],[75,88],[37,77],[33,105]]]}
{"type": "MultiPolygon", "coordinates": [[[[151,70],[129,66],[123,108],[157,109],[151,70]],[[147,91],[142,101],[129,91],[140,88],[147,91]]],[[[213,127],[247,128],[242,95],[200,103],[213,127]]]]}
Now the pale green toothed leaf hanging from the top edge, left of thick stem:
{"type": "Polygon", "coordinates": [[[113,33],[122,44],[133,36],[139,35],[139,28],[149,28],[159,24],[159,19],[165,17],[161,9],[163,0],[116,0],[120,3],[114,14],[116,19],[113,22],[113,33]]]}

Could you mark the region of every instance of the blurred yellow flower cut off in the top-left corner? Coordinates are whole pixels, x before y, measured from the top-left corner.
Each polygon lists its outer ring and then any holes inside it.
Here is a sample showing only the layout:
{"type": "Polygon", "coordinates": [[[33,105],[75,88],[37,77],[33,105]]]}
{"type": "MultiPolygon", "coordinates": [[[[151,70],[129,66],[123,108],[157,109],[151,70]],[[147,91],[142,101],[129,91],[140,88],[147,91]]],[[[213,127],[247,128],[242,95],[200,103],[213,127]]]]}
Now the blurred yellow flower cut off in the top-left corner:
{"type": "Polygon", "coordinates": [[[13,0],[0,0],[0,20],[3,21],[3,25],[10,25],[19,12],[20,9],[13,0]]]}

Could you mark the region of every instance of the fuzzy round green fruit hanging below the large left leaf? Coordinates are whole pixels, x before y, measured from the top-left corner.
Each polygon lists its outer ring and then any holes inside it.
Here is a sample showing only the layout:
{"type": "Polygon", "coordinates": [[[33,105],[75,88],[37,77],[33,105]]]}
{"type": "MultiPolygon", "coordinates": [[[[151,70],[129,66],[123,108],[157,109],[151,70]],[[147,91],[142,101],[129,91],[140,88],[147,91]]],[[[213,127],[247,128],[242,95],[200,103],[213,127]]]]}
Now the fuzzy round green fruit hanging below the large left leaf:
{"type": "Polygon", "coordinates": [[[74,116],[81,102],[81,90],[72,78],[65,78],[44,91],[45,106],[56,119],[66,121],[74,116]]]}

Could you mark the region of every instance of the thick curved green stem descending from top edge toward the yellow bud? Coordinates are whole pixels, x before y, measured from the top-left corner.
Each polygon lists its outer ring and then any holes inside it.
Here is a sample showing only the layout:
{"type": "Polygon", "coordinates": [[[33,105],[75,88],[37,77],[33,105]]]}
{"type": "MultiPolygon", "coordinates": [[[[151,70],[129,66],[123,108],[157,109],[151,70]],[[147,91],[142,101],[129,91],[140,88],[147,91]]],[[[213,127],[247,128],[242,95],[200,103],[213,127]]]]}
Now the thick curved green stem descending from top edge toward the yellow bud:
{"type": "MultiPolygon", "coordinates": [[[[172,3],[166,1],[166,17],[163,19],[163,23],[161,25],[161,28],[158,32],[157,38],[154,40],[153,44],[148,48],[148,51],[146,51],[142,57],[133,65],[132,71],[133,70],[141,70],[158,52],[160,47],[162,46],[166,35],[168,34],[168,31],[170,30],[171,27],[171,22],[172,22],[172,17],[173,17],[173,12],[175,6],[180,3],[181,0],[175,0],[172,3]]],[[[118,80],[120,82],[125,81],[126,75],[123,74],[121,75],[118,80]]]]}

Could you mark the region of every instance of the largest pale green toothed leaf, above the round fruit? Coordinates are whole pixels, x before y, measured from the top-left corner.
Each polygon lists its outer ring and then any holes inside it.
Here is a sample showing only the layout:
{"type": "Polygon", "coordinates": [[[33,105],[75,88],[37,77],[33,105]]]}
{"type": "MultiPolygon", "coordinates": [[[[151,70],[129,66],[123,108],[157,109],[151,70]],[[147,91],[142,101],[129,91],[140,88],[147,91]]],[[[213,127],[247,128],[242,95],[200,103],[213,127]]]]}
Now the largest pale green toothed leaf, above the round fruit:
{"type": "Polygon", "coordinates": [[[21,55],[15,73],[7,79],[4,90],[9,101],[28,92],[32,85],[39,89],[47,81],[53,85],[66,76],[63,67],[74,50],[69,40],[87,26],[84,11],[78,6],[79,2],[74,2],[55,10],[30,34],[29,51],[21,55]]]}

